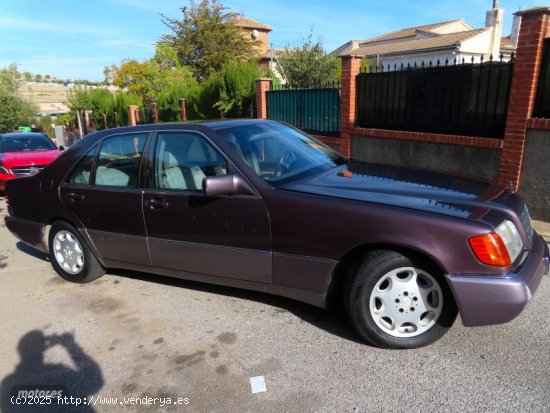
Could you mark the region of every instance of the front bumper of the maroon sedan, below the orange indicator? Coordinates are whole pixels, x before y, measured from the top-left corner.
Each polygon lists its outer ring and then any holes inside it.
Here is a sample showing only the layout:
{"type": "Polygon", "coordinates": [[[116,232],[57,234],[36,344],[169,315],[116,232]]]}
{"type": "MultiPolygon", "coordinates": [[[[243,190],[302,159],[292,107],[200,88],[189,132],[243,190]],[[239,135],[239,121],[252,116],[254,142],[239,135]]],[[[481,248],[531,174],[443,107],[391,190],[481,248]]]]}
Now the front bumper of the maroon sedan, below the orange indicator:
{"type": "Polygon", "coordinates": [[[535,234],[533,249],[516,272],[504,277],[446,274],[462,323],[481,326],[513,320],[548,274],[549,260],[548,246],[535,234]]]}

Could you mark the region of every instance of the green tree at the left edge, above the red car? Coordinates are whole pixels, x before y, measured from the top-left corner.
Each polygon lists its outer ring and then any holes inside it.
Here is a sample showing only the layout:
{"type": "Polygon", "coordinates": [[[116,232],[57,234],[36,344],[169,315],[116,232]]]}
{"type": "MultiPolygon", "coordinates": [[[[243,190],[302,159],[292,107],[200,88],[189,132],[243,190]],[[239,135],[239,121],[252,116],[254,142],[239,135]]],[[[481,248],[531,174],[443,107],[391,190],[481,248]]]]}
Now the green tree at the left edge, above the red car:
{"type": "Polygon", "coordinates": [[[0,69],[0,131],[13,130],[32,122],[36,108],[21,97],[21,81],[15,63],[0,69]]]}

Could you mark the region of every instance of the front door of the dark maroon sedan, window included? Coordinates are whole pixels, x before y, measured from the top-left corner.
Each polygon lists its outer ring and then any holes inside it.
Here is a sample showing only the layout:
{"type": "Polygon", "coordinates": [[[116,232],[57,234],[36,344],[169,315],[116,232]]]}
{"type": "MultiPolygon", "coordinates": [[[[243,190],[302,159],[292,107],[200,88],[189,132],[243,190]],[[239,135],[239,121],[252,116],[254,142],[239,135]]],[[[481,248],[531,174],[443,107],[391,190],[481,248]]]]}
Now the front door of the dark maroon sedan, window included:
{"type": "Polygon", "coordinates": [[[143,198],[154,266],[271,282],[271,230],[259,195],[206,197],[202,180],[230,164],[195,131],[159,132],[143,198]]]}

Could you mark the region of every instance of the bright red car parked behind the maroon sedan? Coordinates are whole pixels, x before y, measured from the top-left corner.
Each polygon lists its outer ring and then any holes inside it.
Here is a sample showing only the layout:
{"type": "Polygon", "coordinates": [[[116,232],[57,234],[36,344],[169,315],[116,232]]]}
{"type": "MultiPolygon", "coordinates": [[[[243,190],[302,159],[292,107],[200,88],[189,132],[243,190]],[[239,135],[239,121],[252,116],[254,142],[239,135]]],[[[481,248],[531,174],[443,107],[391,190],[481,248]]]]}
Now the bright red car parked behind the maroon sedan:
{"type": "Polygon", "coordinates": [[[60,153],[60,149],[42,133],[0,135],[0,191],[10,179],[40,172],[60,153]]]}

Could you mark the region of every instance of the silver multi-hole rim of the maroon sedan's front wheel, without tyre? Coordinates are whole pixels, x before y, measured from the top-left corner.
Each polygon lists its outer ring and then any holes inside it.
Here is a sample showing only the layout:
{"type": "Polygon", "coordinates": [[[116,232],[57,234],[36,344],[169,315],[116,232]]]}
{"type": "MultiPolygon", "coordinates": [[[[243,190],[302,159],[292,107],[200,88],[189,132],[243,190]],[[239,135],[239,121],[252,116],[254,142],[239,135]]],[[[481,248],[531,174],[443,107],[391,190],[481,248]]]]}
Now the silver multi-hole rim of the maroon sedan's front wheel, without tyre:
{"type": "Polygon", "coordinates": [[[370,295],[370,314],[385,333],[415,337],[431,329],[443,309],[436,279],[418,268],[402,267],[385,274],[370,295]]]}

